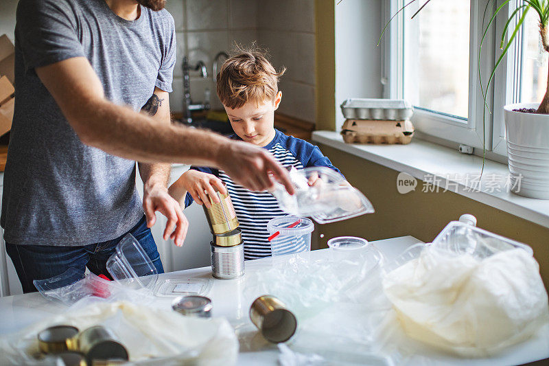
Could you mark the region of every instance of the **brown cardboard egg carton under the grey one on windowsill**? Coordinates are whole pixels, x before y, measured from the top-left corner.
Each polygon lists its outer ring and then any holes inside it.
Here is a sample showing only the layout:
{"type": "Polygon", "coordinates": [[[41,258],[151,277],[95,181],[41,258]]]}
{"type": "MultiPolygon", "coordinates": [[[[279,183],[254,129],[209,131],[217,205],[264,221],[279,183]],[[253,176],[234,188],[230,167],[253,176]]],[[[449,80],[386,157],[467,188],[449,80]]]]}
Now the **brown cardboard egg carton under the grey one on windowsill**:
{"type": "Polygon", "coordinates": [[[347,119],[341,130],[347,144],[410,144],[414,126],[409,120],[347,119]]]}

